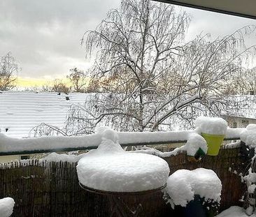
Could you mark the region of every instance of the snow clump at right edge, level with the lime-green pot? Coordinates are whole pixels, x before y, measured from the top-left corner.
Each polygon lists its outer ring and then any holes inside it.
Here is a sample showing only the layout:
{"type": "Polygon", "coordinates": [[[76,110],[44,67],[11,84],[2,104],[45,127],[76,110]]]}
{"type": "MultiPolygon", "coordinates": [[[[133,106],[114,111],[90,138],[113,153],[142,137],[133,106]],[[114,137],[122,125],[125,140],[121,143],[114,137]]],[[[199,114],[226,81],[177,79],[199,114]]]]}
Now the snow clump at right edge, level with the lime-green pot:
{"type": "Polygon", "coordinates": [[[248,147],[256,147],[256,124],[249,124],[241,133],[241,141],[248,147]]]}

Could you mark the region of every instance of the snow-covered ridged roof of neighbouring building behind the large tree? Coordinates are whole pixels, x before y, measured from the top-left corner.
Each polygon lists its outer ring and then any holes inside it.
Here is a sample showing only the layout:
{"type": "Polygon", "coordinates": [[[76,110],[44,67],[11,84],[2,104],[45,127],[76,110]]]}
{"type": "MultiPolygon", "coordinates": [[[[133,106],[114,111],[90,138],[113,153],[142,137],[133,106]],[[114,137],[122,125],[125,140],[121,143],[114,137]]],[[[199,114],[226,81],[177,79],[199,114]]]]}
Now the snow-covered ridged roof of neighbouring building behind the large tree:
{"type": "MultiPolygon", "coordinates": [[[[4,91],[0,93],[0,129],[9,137],[28,137],[29,131],[41,123],[62,128],[72,104],[84,105],[93,93],[35,93],[4,91]],[[7,132],[6,132],[7,130],[7,132]]],[[[256,96],[232,96],[228,114],[256,119],[256,96]],[[236,105],[242,103],[242,109],[236,105]]],[[[223,114],[225,115],[225,114],[223,114]]]]}

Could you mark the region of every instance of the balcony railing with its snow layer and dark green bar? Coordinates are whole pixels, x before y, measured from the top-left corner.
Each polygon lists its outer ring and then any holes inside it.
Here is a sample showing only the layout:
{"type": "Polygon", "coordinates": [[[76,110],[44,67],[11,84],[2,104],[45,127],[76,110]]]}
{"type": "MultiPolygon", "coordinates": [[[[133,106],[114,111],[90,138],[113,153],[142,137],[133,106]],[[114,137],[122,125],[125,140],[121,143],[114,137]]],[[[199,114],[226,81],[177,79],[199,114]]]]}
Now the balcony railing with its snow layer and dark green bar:
{"type": "MultiPolygon", "coordinates": [[[[239,140],[244,128],[227,128],[225,140],[239,140]]],[[[185,143],[195,130],[169,132],[118,132],[122,147],[185,143]]],[[[56,151],[96,149],[101,143],[101,133],[83,136],[45,136],[17,139],[0,133],[0,156],[37,154],[56,151]]]]}

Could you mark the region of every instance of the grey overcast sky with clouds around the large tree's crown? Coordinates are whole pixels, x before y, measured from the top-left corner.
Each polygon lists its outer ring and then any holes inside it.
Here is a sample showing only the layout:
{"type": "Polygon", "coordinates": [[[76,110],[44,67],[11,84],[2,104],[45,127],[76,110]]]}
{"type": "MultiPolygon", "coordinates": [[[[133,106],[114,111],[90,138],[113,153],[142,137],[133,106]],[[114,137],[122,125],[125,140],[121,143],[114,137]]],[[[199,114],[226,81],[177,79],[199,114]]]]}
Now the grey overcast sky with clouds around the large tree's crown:
{"type": "MultiPolygon", "coordinates": [[[[89,66],[80,39],[94,29],[120,0],[1,0],[0,56],[12,52],[22,68],[21,77],[60,77],[69,69],[89,66]]],[[[187,9],[193,17],[191,38],[211,33],[213,38],[232,33],[250,20],[196,9],[187,9]]],[[[256,44],[256,36],[247,39],[256,44]]]]}

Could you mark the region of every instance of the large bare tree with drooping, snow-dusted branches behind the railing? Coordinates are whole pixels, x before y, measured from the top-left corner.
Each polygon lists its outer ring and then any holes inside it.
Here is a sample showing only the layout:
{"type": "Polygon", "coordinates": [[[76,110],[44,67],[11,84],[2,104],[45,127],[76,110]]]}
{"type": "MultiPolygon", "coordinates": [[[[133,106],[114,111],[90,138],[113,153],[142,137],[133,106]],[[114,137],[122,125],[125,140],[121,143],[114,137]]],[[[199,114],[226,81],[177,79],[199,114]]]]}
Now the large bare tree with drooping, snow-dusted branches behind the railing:
{"type": "Polygon", "coordinates": [[[222,85],[252,52],[243,33],[255,27],[185,43],[189,23],[187,13],[147,0],[122,1],[120,10],[111,10],[83,38],[87,55],[98,50],[93,80],[108,81],[105,93],[86,107],[73,105],[68,124],[77,130],[101,122],[118,130],[163,130],[178,119],[190,126],[199,114],[220,116],[228,103],[222,85]]]}

